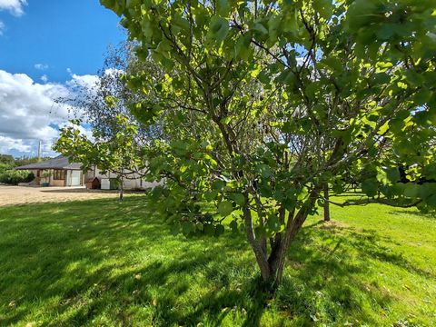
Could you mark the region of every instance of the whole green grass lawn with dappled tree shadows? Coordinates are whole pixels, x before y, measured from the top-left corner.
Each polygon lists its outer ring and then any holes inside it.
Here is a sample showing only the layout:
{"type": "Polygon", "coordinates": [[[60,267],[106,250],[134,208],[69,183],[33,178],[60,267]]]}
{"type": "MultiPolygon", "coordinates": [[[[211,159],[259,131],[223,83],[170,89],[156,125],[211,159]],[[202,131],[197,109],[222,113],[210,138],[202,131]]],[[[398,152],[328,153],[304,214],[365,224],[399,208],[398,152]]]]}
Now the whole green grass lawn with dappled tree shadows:
{"type": "Polygon", "coordinates": [[[436,219],[370,204],[312,217],[282,287],[243,235],[173,237],[142,196],[0,208],[0,325],[435,326],[436,219]]]}

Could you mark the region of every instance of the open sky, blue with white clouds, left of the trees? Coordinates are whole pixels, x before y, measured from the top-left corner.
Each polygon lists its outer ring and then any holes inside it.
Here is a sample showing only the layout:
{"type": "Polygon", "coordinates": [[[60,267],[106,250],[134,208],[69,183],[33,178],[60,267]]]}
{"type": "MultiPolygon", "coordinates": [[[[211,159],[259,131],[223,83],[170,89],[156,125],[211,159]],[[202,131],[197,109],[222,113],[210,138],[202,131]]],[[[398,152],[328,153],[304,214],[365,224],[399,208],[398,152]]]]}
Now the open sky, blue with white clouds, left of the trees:
{"type": "Polygon", "coordinates": [[[93,84],[110,45],[125,39],[98,0],[0,0],[0,154],[46,155],[73,118],[54,100],[93,84]]]}

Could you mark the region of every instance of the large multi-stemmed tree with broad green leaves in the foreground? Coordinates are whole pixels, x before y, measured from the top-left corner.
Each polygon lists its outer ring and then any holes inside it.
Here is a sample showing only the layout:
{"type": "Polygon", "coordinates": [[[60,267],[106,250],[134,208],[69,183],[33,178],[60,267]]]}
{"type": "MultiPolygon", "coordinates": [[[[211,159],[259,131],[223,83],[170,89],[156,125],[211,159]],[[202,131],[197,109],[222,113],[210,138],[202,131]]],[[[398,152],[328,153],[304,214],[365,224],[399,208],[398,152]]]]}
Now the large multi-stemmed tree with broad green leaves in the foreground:
{"type": "Polygon", "coordinates": [[[174,232],[242,226],[277,285],[326,186],[341,193],[359,174],[365,202],[436,205],[435,184],[420,183],[436,177],[433,0],[101,2],[166,72],[127,79],[144,95],[136,118],[178,136],[149,144],[174,232]]]}

